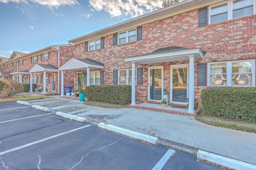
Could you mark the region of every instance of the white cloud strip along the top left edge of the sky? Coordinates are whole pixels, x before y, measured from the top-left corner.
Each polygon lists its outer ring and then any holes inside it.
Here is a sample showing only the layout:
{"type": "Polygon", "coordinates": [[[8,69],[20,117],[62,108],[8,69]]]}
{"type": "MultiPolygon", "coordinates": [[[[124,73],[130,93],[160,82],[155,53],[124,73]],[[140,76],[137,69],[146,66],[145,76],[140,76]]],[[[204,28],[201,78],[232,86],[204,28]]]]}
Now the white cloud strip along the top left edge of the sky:
{"type": "Polygon", "coordinates": [[[58,7],[61,5],[75,5],[78,4],[77,0],[0,0],[2,3],[26,3],[33,2],[39,5],[45,5],[49,7],[58,7]]]}

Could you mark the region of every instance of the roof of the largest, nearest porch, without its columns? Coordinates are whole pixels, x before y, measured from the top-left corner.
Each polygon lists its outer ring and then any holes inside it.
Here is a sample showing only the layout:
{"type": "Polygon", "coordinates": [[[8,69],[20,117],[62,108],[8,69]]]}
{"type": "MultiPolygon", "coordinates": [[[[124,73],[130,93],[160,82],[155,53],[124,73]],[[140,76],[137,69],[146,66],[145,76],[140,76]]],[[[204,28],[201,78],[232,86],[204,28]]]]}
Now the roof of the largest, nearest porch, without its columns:
{"type": "Polygon", "coordinates": [[[165,47],[155,50],[153,53],[125,58],[125,62],[135,64],[156,64],[166,62],[188,61],[190,56],[195,59],[203,58],[204,54],[201,48],[183,48],[183,47],[165,47]]]}

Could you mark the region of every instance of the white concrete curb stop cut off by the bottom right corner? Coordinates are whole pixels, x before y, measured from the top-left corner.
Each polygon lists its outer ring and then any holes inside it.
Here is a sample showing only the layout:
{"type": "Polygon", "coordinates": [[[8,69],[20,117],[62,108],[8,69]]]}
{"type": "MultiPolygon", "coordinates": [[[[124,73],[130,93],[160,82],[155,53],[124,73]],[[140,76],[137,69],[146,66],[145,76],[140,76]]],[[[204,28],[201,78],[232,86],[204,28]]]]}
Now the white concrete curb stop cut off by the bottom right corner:
{"type": "Polygon", "coordinates": [[[243,169],[243,170],[256,170],[256,165],[241,162],[236,159],[231,159],[225,156],[212,154],[203,150],[198,150],[197,160],[201,162],[206,162],[214,164],[216,166],[228,169],[243,169]]]}

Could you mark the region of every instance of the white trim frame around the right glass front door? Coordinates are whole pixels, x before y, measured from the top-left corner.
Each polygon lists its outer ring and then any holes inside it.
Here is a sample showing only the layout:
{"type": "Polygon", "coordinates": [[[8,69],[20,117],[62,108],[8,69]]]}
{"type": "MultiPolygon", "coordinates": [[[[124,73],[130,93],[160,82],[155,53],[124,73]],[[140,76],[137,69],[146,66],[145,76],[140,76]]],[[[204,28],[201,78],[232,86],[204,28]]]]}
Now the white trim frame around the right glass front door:
{"type": "Polygon", "coordinates": [[[189,64],[177,64],[177,65],[170,65],[170,103],[173,104],[188,104],[183,102],[172,101],[172,70],[173,68],[187,68],[187,98],[188,98],[188,86],[189,86],[189,64]]]}

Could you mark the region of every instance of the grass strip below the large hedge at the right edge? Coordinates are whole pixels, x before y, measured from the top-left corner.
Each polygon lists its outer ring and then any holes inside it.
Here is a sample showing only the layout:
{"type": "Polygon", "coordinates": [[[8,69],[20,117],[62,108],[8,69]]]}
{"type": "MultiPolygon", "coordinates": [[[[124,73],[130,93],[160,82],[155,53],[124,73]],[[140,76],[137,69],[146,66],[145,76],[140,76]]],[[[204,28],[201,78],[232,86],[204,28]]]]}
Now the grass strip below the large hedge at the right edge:
{"type": "Polygon", "coordinates": [[[196,115],[196,120],[199,122],[203,122],[205,124],[218,126],[222,128],[228,128],[238,131],[251,132],[256,133],[256,124],[249,123],[246,121],[235,121],[235,120],[226,120],[220,117],[209,116],[203,113],[199,113],[196,115]]]}

